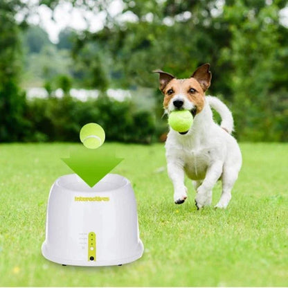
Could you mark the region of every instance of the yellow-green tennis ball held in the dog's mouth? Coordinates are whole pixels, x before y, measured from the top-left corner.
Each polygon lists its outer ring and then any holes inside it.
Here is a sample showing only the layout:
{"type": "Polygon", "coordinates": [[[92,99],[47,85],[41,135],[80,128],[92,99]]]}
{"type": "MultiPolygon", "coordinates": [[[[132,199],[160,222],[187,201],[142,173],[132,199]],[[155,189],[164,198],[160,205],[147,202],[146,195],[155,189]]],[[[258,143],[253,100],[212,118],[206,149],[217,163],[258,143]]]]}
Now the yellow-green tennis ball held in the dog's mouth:
{"type": "Polygon", "coordinates": [[[168,123],[177,132],[187,132],[193,123],[193,116],[188,110],[172,111],[168,123]]]}

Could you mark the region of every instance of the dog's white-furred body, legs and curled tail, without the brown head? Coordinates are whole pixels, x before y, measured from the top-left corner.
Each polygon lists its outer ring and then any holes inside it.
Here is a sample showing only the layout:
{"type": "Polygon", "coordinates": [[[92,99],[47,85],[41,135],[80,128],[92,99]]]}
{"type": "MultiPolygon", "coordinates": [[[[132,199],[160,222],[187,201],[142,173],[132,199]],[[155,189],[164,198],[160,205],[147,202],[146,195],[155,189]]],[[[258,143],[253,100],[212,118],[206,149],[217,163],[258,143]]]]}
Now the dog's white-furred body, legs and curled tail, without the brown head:
{"type": "MultiPolygon", "coordinates": [[[[165,143],[166,159],[168,174],[174,186],[174,201],[177,204],[183,203],[187,198],[185,172],[193,180],[197,190],[197,208],[211,204],[212,189],[220,177],[222,195],[215,207],[226,208],[231,199],[231,190],[242,165],[242,156],[235,138],[213,121],[210,105],[222,116],[222,127],[231,132],[231,111],[217,98],[206,96],[204,109],[195,116],[187,134],[181,135],[173,129],[168,133],[165,143]]],[[[168,107],[168,113],[171,111],[169,110],[168,107]]]]}

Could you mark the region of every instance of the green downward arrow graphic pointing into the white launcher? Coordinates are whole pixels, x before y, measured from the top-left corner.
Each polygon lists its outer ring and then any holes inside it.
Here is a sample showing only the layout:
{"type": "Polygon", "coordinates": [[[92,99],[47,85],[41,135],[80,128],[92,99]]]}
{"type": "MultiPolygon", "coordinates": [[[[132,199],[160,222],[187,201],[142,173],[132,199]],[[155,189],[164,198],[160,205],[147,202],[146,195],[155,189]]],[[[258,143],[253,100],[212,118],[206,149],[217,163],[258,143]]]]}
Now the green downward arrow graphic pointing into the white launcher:
{"type": "Polygon", "coordinates": [[[71,152],[70,158],[62,158],[78,176],[93,187],[112,169],[114,169],[123,158],[103,152],[102,149],[97,150],[80,150],[79,152],[71,152]]]}

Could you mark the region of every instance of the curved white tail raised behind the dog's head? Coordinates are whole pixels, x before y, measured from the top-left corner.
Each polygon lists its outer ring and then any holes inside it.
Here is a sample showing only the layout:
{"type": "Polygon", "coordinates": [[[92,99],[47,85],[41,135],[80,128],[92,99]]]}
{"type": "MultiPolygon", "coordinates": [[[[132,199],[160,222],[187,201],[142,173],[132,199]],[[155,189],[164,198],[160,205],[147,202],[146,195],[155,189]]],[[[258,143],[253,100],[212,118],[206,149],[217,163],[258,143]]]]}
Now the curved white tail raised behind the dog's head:
{"type": "Polygon", "coordinates": [[[214,108],[221,116],[221,127],[229,134],[232,133],[234,128],[234,121],[231,111],[228,107],[218,98],[213,96],[206,96],[210,107],[214,108]]]}

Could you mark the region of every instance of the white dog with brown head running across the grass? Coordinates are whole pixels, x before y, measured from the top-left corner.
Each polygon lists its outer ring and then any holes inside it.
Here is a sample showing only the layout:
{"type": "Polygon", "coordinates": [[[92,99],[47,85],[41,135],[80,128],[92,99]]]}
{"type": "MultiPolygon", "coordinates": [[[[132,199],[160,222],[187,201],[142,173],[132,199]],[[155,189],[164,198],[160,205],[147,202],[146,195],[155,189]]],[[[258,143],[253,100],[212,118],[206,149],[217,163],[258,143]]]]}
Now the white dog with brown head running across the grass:
{"type": "Polygon", "coordinates": [[[215,208],[226,208],[231,190],[242,166],[242,154],[233,132],[233,116],[222,101],[205,96],[210,87],[210,64],[199,66],[187,79],[177,79],[161,70],[160,90],[164,94],[166,114],[175,110],[189,110],[194,118],[187,132],[176,132],[170,127],[165,143],[168,175],[174,186],[174,203],[187,199],[185,173],[196,190],[197,209],[210,206],[212,189],[222,180],[222,195],[215,208]],[[221,116],[221,126],[213,120],[213,107],[221,116]]]}

